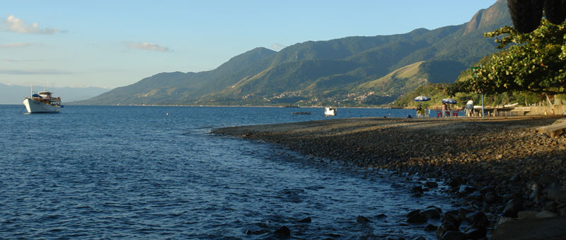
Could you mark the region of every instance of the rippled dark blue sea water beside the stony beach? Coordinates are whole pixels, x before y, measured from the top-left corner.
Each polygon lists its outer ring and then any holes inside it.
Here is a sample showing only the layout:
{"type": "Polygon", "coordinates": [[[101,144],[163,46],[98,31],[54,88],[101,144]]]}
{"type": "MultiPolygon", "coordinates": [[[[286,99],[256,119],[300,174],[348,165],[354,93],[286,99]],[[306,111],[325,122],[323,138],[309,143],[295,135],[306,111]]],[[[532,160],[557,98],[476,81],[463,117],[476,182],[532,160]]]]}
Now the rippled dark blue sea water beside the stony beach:
{"type": "MultiPolygon", "coordinates": [[[[417,183],[404,177],[209,134],[323,120],[323,108],[24,112],[0,105],[0,239],[277,239],[282,226],[298,239],[434,239],[423,224],[405,224],[405,215],[451,207],[434,191],[411,197],[417,183]],[[358,215],[371,222],[357,222],[358,215]],[[306,217],[312,222],[299,222],[306,217]]],[[[332,118],[412,113],[339,108],[332,118]]]]}

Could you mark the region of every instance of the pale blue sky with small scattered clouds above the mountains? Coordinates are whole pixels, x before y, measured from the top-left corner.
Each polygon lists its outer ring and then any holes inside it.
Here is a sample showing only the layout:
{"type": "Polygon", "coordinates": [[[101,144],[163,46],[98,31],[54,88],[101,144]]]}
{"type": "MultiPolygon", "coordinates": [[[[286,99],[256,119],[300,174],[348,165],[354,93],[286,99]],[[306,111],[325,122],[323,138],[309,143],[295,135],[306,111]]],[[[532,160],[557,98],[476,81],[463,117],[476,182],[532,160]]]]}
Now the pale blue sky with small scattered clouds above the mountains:
{"type": "Polygon", "coordinates": [[[0,0],[0,84],[127,86],[266,47],[470,21],[495,0],[0,0]]]}

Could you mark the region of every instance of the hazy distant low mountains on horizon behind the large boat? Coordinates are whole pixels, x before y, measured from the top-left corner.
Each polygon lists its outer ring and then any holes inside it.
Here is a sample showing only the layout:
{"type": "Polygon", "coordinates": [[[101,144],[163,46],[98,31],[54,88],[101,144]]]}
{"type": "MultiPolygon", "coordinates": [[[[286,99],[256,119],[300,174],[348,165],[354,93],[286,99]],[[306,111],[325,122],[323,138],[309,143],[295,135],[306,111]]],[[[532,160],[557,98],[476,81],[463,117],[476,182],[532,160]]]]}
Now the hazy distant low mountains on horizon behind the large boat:
{"type": "MultiPolygon", "coordinates": [[[[0,84],[0,104],[22,104],[23,98],[30,96],[30,86],[17,86],[17,85],[6,85],[0,84]]],[[[43,86],[35,86],[33,91],[43,91],[43,86]]],[[[107,88],[98,87],[50,87],[49,91],[53,92],[56,97],[61,97],[63,103],[69,103],[72,101],[81,101],[88,98],[93,98],[102,93],[110,91],[107,88]]]]}

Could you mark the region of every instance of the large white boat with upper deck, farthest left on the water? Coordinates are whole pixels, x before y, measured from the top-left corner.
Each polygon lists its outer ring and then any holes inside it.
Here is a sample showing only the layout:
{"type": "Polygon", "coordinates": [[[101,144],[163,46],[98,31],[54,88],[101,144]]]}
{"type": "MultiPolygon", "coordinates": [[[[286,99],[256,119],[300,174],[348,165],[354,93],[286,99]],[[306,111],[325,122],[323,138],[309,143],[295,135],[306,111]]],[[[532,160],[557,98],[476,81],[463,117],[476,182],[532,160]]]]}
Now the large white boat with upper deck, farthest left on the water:
{"type": "Polygon", "coordinates": [[[25,97],[23,99],[23,105],[28,113],[59,113],[61,108],[61,98],[52,97],[52,92],[40,91],[37,93],[33,92],[33,86],[31,90],[31,96],[25,97]]]}

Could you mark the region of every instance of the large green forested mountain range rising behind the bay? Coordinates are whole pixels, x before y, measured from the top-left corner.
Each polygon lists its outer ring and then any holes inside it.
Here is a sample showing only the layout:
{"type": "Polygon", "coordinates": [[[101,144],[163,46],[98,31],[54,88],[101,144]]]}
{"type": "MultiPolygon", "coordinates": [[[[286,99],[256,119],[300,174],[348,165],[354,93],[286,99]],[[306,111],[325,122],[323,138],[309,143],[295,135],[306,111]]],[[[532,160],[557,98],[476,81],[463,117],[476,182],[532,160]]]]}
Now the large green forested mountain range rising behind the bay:
{"type": "Polygon", "coordinates": [[[168,72],[76,104],[380,105],[427,83],[452,83],[497,49],[483,33],[512,25],[505,0],[468,23],[410,33],[258,47],[207,72],[168,72]]]}

